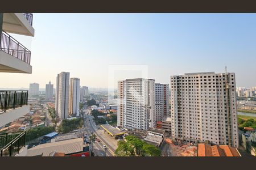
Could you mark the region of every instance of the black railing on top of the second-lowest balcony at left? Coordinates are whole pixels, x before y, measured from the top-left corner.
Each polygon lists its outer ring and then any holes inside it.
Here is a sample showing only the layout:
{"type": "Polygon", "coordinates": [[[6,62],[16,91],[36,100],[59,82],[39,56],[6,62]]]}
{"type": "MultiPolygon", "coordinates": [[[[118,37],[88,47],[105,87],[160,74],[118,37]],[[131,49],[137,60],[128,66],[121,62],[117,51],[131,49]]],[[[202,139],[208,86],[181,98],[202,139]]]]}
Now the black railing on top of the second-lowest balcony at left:
{"type": "Polygon", "coordinates": [[[0,91],[0,113],[27,105],[28,91],[0,91]]]}

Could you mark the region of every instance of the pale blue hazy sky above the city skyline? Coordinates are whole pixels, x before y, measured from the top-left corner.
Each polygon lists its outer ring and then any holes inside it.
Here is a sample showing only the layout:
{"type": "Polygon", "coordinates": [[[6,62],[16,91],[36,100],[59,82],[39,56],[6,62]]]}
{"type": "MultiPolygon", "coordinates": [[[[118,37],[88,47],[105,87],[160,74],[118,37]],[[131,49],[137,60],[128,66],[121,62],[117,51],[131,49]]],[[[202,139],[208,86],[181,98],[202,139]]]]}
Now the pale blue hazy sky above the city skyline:
{"type": "MultiPolygon", "coordinates": [[[[14,35],[31,50],[32,74],[0,73],[0,87],[55,87],[61,71],[108,87],[111,65],[147,66],[160,83],[226,65],[237,87],[256,86],[256,14],[34,14],[33,27],[35,37],[14,35]]],[[[137,78],[131,72],[115,77],[137,78]]]]}

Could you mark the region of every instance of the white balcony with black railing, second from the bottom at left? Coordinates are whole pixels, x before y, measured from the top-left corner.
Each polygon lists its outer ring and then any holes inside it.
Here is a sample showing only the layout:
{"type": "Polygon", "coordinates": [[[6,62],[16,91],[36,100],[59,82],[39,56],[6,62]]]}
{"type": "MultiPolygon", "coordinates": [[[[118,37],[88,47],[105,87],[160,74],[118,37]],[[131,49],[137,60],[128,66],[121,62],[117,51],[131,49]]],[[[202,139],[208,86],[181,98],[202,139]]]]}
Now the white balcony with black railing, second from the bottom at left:
{"type": "Polygon", "coordinates": [[[28,91],[0,91],[0,127],[30,112],[28,91]]]}

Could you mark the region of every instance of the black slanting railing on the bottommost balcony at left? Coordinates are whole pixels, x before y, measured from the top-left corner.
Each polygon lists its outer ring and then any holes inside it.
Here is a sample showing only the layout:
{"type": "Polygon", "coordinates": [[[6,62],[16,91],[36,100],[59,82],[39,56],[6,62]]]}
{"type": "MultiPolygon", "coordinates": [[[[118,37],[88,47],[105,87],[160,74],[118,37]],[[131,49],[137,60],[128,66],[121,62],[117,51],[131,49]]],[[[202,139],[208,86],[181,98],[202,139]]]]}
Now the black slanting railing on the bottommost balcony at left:
{"type": "MultiPolygon", "coordinates": [[[[1,148],[0,156],[15,156],[19,153],[20,149],[25,146],[26,131],[19,131],[16,133],[18,133],[18,135],[16,135],[16,137],[13,138],[12,141],[7,143],[3,148],[1,148]]],[[[7,138],[9,136],[9,133],[3,135],[5,135],[5,137],[7,138]]]]}

